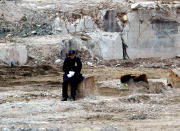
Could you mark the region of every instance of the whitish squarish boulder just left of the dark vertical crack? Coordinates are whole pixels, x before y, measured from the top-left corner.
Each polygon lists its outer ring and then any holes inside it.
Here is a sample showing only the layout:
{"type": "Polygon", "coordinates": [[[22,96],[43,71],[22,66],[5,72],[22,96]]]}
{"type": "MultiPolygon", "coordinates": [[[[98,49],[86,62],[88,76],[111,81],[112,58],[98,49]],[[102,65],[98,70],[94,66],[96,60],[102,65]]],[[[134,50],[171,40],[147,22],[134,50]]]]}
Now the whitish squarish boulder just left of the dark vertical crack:
{"type": "Polygon", "coordinates": [[[91,50],[95,56],[102,57],[104,60],[122,59],[122,41],[117,32],[96,31],[88,33],[92,38],[88,45],[94,45],[91,50]]]}

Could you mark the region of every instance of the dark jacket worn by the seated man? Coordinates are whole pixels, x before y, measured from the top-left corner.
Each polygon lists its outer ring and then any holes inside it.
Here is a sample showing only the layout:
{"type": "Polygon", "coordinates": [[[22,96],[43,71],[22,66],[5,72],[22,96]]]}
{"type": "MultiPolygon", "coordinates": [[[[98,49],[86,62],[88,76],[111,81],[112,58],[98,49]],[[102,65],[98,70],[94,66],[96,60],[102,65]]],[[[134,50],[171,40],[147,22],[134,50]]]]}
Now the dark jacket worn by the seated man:
{"type": "Polygon", "coordinates": [[[81,59],[77,56],[74,59],[66,57],[63,64],[63,71],[65,74],[68,74],[69,71],[74,71],[75,75],[79,75],[82,69],[81,59]]]}

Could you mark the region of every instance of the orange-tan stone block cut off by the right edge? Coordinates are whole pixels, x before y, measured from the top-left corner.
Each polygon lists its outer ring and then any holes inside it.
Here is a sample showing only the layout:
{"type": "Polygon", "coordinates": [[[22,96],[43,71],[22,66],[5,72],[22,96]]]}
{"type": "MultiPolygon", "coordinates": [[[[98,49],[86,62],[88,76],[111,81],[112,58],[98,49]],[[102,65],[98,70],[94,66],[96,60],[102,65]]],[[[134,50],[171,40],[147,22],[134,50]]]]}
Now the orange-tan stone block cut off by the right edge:
{"type": "Polygon", "coordinates": [[[180,88],[180,68],[178,69],[169,69],[169,83],[174,88],[180,88]]]}

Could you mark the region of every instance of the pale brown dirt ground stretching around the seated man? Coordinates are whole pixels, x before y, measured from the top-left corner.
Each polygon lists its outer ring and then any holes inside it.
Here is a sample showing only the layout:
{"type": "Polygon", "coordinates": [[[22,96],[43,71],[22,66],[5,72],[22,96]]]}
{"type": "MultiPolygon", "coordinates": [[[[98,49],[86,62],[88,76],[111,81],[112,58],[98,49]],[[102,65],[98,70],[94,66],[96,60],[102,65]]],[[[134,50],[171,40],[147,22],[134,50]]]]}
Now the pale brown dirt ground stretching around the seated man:
{"type": "Polygon", "coordinates": [[[0,67],[0,129],[36,131],[179,131],[180,89],[126,86],[115,93],[104,81],[124,74],[168,78],[166,68],[83,66],[95,76],[95,93],[62,102],[61,66],[0,67]],[[128,92],[127,92],[128,90],[128,92]]]}

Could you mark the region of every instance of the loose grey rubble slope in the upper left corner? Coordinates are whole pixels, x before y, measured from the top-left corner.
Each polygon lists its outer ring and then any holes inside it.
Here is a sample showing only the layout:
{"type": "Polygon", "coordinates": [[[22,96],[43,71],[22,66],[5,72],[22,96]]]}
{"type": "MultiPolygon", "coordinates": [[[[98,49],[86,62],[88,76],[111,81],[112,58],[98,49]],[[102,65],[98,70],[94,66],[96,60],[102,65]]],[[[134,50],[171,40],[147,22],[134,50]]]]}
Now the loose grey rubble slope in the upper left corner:
{"type": "MultiPolygon", "coordinates": [[[[18,5],[12,3],[0,4],[2,13],[0,15],[0,36],[11,40],[13,37],[29,37],[35,35],[50,35],[52,34],[52,20],[49,18],[47,12],[43,10],[29,10],[24,9],[18,5]],[[12,6],[13,10],[18,10],[20,14],[12,14],[12,11],[8,12],[8,8],[12,6]],[[23,12],[23,13],[22,13],[23,12]],[[15,20],[11,20],[8,17],[18,17],[15,20]],[[20,18],[19,18],[20,17],[20,18]]],[[[17,12],[17,11],[15,11],[17,12]]]]}

